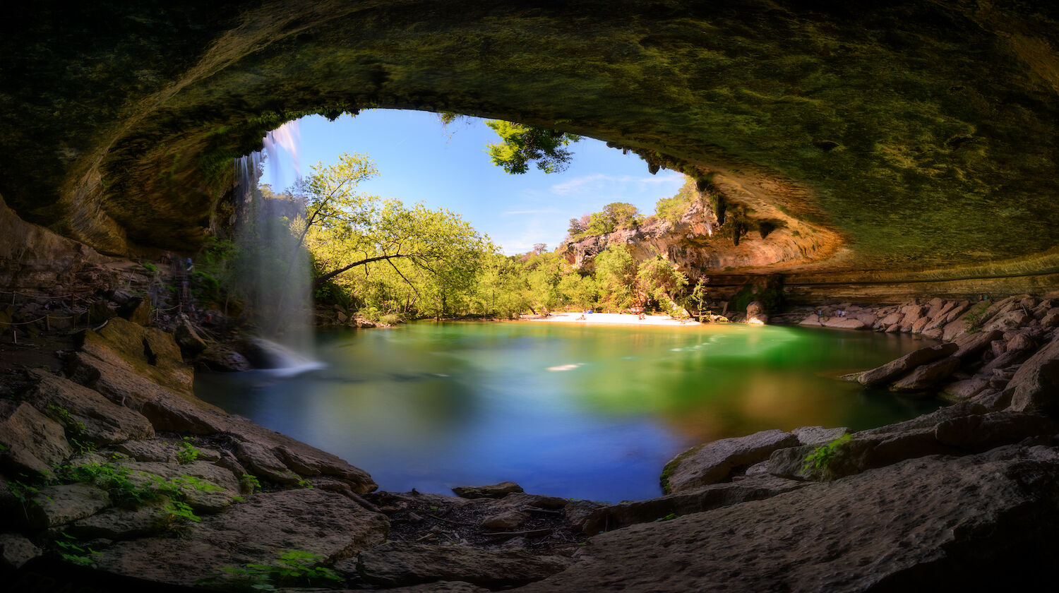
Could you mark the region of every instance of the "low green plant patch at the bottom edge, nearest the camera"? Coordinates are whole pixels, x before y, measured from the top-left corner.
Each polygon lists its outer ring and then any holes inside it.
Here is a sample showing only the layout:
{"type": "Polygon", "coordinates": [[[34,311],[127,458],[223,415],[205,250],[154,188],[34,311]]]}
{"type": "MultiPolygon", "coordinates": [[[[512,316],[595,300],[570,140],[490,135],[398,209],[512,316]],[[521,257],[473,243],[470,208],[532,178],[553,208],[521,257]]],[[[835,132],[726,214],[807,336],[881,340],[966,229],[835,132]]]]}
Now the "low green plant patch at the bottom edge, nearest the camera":
{"type": "Polygon", "coordinates": [[[276,591],[280,587],[322,587],[343,580],[334,569],[321,565],[324,556],[288,550],[280,554],[275,564],[247,563],[223,567],[222,574],[213,574],[197,585],[219,586],[231,591],[276,591]]]}

